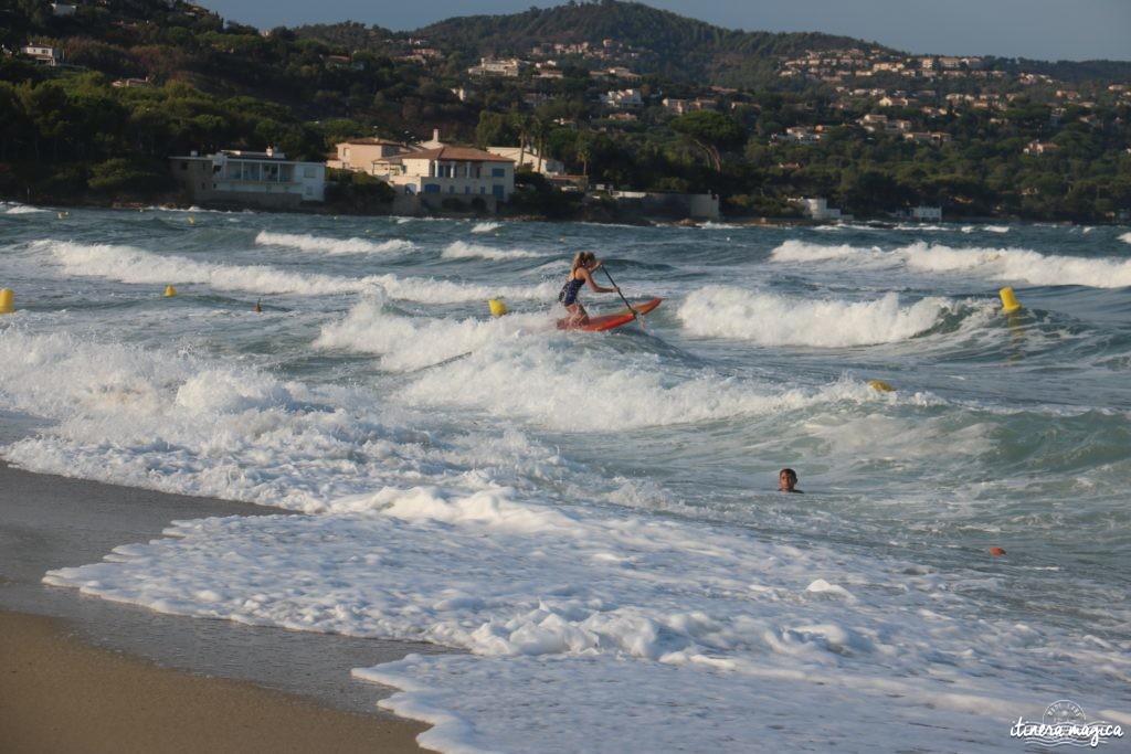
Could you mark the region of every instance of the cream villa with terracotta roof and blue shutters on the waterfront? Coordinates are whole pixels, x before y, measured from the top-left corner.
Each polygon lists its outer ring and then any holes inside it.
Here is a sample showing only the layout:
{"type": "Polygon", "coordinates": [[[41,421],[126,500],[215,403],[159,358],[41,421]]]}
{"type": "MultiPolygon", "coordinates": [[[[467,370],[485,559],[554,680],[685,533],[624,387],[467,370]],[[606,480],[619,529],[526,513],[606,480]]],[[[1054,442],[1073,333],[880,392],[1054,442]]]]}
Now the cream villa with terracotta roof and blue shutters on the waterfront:
{"type": "Polygon", "coordinates": [[[422,199],[475,197],[507,201],[515,192],[515,161],[470,147],[441,146],[390,157],[386,179],[422,199]]]}

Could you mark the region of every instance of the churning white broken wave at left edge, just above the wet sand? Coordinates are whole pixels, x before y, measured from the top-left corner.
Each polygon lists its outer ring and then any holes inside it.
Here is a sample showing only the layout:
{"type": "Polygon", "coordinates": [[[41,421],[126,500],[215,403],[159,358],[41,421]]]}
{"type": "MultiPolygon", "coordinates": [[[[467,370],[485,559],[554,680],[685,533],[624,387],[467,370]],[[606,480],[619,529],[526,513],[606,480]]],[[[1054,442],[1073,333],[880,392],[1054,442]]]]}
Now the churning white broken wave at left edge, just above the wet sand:
{"type": "Polygon", "coordinates": [[[365,389],[310,388],[192,354],[12,329],[0,357],[0,406],[55,422],[3,449],[42,474],[309,513],[424,476],[455,482],[476,463],[560,471],[552,450],[517,432],[434,443],[411,407],[365,389]]]}

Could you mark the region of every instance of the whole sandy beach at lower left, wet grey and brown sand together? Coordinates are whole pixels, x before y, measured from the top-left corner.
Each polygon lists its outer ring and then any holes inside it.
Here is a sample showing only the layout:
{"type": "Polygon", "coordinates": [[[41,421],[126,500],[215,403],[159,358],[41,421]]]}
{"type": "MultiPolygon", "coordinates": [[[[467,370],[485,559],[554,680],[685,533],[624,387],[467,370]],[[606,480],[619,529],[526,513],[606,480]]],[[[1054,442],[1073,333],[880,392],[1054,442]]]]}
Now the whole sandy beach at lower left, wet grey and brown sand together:
{"type": "Polygon", "coordinates": [[[425,751],[425,726],[378,711],[390,690],[349,669],[426,647],[165,616],[40,583],[174,519],[277,511],[5,463],[0,489],[6,752],[425,751]]]}

